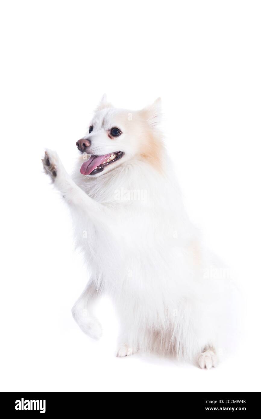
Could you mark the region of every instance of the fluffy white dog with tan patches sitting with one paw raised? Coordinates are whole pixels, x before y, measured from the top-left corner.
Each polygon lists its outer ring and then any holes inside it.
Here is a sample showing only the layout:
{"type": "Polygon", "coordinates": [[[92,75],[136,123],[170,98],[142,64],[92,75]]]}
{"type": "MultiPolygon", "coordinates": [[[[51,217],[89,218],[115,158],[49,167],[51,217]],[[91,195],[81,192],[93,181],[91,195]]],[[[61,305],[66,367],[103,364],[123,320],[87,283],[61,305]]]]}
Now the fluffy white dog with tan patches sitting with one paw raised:
{"type": "Polygon", "coordinates": [[[104,95],[76,142],[73,176],[52,150],[42,161],[70,207],[92,273],[72,308],[80,328],[101,336],[92,308],[106,292],[121,323],[117,356],[171,354],[209,369],[225,347],[230,281],[213,274],[224,267],[204,249],[183,207],[160,116],[160,99],[130,111],[104,95]]]}

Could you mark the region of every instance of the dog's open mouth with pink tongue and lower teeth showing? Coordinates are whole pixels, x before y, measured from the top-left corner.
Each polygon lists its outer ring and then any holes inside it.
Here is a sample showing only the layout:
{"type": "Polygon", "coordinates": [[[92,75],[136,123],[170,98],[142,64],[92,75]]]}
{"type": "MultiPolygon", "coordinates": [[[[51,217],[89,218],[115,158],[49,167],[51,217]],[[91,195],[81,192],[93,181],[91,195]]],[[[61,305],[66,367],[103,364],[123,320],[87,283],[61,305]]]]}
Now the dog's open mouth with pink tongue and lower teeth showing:
{"type": "Polygon", "coordinates": [[[123,151],[116,151],[115,153],[102,156],[90,155],[90,158],[82,164],[80,172],[82,175],[96,175],[96,173],[102,172],[109,164],[119,160],[123,155],[123,151]]]}

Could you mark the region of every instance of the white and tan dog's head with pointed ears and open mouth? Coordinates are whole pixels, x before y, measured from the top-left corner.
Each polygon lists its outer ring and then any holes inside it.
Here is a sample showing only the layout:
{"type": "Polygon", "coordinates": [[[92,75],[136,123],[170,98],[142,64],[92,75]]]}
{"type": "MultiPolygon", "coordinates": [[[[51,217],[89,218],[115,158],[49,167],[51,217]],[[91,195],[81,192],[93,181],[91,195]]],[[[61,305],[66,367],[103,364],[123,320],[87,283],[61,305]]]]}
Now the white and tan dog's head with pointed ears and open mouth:
{"type": "Polygon", "coordinates": [[[76,142],[83,153],[80,172],[100,176],[133,158],[145,159],[160,170],[160,105],[158,98],[140,111],[116,109],[104,95],[88,134],[76,142]]]}

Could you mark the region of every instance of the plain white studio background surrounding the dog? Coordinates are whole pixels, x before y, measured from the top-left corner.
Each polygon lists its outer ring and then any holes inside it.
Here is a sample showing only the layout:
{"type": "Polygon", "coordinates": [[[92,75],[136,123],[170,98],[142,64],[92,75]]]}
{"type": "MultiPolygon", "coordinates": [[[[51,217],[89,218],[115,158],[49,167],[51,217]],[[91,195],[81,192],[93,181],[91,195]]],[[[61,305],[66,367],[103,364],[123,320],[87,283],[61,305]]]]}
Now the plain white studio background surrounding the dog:
{"type": "Polygon", "coordinates": [[[1,4],[1,390],[260,391],[260,2],[1,4]],[[130,109],[161,96],[189,215],[238,274],[242,344],[215,369],[116,358],[106,297],[100,341],[72,319],[88,277],[41,157],[70,171],[104,92],[130,109]]]}

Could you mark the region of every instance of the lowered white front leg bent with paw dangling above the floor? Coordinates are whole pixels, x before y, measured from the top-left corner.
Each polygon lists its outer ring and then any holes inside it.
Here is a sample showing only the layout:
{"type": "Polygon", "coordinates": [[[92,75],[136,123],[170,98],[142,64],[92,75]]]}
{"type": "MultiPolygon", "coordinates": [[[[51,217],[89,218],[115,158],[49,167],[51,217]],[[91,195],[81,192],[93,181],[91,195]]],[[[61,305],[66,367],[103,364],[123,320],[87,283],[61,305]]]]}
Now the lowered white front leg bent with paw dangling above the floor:
{"type": "Polygon", "coordinates": [[[95,282],[90,279],[83,293],[72,307],[72,316],[82,331],[93,339],[99,339],[102,335],[101,324],[93,316],[93,304],[97,300],[100,292],[97,290],[95,282]]]}

